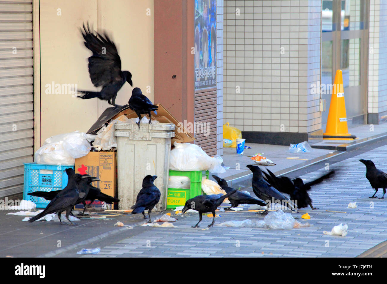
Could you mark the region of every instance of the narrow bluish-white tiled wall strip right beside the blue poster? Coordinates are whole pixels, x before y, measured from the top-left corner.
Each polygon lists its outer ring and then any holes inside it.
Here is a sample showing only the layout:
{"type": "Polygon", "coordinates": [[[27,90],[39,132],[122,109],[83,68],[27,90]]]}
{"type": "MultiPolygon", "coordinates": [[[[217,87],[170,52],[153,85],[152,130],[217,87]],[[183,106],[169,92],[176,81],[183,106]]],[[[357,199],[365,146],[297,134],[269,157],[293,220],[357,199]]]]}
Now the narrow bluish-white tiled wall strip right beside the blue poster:
{"type": "Polygon", "coordinates": [[[223,0],[216,7],[217,154],[223,155],[223,0]]]}

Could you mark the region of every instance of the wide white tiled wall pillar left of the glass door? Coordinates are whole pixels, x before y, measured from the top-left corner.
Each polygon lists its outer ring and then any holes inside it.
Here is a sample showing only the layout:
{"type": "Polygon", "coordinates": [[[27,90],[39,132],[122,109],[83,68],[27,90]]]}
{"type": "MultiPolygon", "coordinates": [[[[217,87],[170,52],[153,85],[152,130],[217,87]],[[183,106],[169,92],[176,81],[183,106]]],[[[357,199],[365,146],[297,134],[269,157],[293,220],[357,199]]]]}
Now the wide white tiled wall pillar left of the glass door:
{"type": "Polygon", "coordinates": [[[320,40],[320,0],[224,0],[223,123],[320,129],[320,40]]]}

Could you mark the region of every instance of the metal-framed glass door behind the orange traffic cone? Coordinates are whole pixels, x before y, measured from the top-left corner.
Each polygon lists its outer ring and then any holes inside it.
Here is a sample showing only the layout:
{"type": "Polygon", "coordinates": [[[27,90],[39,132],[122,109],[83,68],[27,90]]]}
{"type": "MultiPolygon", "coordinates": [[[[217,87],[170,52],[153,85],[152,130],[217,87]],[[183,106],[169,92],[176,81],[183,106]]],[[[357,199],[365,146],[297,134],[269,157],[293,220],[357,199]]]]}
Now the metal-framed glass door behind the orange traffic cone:
{"type": "Polygon", "coordinates": [[[366,123],[368,77],[368,15],[366,0],[322,1],[322,128],[325,129],[332,83],[342,70],[348,126],[366,123]]]}

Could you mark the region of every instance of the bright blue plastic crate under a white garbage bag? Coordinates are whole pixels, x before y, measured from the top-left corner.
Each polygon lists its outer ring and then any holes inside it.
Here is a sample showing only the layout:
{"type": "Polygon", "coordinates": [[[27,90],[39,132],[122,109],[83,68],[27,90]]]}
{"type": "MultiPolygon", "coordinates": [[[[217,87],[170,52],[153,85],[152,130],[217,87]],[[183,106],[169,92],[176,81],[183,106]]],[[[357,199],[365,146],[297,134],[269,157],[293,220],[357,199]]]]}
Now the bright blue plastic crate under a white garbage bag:
{"type": "Polygon", "coordinates": [[[39,165],[36,163],[24,163],[24,193],[23,199],[30,200],[37,208],[46,208],[50,201],[43,197],[27,195],[28,192],[54,191],[65,188],[68,182],[67,168],[74,166],[39,165]]]}

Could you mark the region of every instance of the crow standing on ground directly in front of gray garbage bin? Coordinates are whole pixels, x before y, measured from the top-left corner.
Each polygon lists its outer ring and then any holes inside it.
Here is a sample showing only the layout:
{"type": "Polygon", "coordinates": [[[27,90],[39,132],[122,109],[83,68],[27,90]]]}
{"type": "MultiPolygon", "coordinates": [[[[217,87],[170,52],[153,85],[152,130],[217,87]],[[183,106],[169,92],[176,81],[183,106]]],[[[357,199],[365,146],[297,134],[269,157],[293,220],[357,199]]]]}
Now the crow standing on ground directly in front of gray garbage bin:
{"type": "Polygon", "coordinates": [[[155,179],[157,179],[157,175],[147,175],[144,177],[142,180],[142,189],[137,194],[136,204],[131,207],[133,209],[132,214],[142,213],[144,219],[146,219],[145,210],[148,210],[148,223],[152,223],[151,211],[159,203],[161,196],[160,190],[153,184],[155,179]]]}

